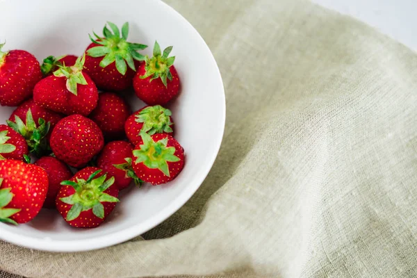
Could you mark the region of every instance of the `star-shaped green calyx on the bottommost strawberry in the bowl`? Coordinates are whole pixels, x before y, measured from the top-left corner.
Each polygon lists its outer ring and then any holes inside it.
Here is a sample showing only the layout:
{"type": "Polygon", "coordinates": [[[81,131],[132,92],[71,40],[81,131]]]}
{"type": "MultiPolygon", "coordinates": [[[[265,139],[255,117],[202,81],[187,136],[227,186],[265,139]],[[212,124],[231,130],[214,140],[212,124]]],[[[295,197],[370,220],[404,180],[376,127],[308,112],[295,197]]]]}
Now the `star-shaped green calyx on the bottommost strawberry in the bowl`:
{"type": "Polygon", "coordinates": [[[72,221],[79,217],[81,211],[88,211],[92,209],[92,213],[98,218],[104,218],[104,206],[102,202],[119,202],[119,199],[104,193],[104,191],[115,183],[115,178],[111,177],[106,181],[107,174],[95,179],[101,170],[92,173],[90,177],[85,179],[76,179],[74,181],[63,181],[62,186],[72,186],[75,190],[73,195],[60,198],[65,204],[70,204],[72,207],[67,213],[67,221],[72,221]]]}

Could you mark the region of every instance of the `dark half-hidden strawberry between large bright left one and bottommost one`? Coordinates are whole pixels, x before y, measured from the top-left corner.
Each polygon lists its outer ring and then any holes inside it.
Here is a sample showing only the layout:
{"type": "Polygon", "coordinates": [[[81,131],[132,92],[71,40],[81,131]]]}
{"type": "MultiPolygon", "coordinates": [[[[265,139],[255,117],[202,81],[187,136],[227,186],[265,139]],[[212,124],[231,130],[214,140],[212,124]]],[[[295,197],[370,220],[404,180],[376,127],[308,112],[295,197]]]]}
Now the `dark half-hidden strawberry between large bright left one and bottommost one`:
{"type": "Polygon", "coordinates": [[[54,208],[56,195],[60,189],[60,183],[67,179],[71,179],[72,172],[65,163],[58,161],[58,159],[52,156],[43,156],[34,164],[45,170],[48,175],[49,188],[47,199],[45,199],[43,206],[44,208],[54,208]]]}

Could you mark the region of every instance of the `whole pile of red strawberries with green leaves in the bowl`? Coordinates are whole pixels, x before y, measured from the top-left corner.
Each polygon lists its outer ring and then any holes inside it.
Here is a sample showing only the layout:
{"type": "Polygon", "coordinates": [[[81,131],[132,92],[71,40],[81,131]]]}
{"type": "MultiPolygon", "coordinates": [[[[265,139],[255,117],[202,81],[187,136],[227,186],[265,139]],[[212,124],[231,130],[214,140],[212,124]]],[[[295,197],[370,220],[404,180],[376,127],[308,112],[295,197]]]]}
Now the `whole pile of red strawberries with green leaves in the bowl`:
{"type": "Polygon", "coordinates": [[[72,227],[97,227],[132,181],[158,185],[181,172],[183,147],[163,107],[180,88],[172,47],[155,42],[143,56],[147,46],[128,33],[128,23],[108,22],[82,56],[42,65],[0,44],[0,104],[17,106],[0,124],[0,222],[26,223],[44,207],[72,227]],[[131,87],[148,105],[134,113],[120,94],[131,87]]]}

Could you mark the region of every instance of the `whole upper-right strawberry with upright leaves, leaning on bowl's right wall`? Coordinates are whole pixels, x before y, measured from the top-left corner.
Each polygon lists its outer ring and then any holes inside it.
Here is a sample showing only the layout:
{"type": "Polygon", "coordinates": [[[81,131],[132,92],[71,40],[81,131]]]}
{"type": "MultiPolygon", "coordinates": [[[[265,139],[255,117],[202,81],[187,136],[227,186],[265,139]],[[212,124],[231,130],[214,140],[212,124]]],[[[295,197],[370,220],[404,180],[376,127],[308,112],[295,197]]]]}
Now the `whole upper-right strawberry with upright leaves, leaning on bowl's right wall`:
{"type": "Polygon", "coordinates": [[[174,67],[175,56],[168,57],[172,47],[167,47],[161,55],[161,48],[155,42],[154,57],[145,57],[136,76],[133,88],[138,98],[149,105],[164,105],[179,93],[179,76],[174,67]]]}

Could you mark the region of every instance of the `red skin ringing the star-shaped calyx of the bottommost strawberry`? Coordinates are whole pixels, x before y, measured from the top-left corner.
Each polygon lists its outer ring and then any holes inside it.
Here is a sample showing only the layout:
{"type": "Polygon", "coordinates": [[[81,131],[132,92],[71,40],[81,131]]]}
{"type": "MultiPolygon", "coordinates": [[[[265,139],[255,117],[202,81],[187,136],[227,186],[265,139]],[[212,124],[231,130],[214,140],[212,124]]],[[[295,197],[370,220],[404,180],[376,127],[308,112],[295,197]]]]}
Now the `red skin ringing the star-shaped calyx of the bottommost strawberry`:
{"type": "MultiPolygon", "coordinates": [[[[85,167],[83,170],[77,172],[74,175],[74,177],[70,179],[70,181],[76,182],[76,178],[87,180],[88,177],[90,177],[90,175],[97,170],[100,170],[100,169],[98,167],[85,167]]],[[[97,174],[97,177],[101,177],[103,174],[106,174],[106,172],[102,171],[101,173],[97,174]]],[[[108,175],[107,179],[109,178],[110,176],[108,175]]],[[[64,219],[67,218],[67,213],[68,211],[70,211],[71,205],[65,204],[64,202],[60,200],[60,198],[73,195],[74,193],[75,193],[75,190],[72,186],[61,186],[58,192],[58,195],[56,195],[56,208],[58,209],[58,212],[60,213],[60,215],[63,216],[64,219]]],[[[117,198],[119,195],[119,189],[117,188],[117,186],[113,184],[113,186],[110,186],[109,188],[107,188],[104,191],[104,193],[107,193],[108,195],[111,195],[117,198]]],[[[116,206],[116,203],[112,203],[112,202],[103,202],[102,204],[104,206],[104,218],[103,219],[98,218],[96,215],[94,215],[94,213],[92,213],[92,209],[90,209],[88,211],[82,211],[78,218],[72,221],[67,221],[67,223],[70,224],[72,227],[76,227],[76,228],[94,228],[94,227],[99,226],[99,224],[104,222],[106,217],[113,211],[113,209],[116,206]]]]}

